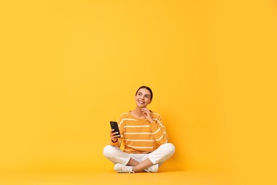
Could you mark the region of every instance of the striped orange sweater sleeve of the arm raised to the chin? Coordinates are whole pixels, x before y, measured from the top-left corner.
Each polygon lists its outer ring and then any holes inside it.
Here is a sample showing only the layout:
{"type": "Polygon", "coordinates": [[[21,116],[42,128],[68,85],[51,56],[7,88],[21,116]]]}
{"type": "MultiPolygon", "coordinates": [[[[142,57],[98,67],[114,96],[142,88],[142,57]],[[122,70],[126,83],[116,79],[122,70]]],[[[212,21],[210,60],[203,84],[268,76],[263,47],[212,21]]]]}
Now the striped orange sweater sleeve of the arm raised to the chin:
{"type": "Polygon", "coordinates": [[[168,142],[168,134],[165,131],[165,126],[163,125],[163,121],[161,116],[158,115],[157,118],[153,119],[154,121],[150,123],[150,128],[154,133],[154,137],[158,144],[165,144],[168,142]]]}

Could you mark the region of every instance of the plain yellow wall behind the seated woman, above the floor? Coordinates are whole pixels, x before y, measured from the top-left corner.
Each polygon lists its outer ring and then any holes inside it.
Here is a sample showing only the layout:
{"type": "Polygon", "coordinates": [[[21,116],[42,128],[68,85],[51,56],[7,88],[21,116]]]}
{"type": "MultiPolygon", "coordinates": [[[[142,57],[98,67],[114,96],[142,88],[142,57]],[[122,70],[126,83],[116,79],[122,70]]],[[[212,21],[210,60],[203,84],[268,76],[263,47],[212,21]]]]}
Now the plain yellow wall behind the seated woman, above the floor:
{"type": "Polygon", "coordinates": [[[161,170],[274,175],[276,1],[0,7],[0,171],[111,170],[109,120],[148,85],[176,147],[161,170]]]}

